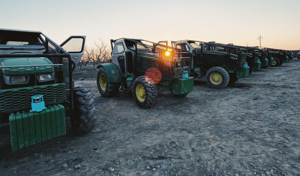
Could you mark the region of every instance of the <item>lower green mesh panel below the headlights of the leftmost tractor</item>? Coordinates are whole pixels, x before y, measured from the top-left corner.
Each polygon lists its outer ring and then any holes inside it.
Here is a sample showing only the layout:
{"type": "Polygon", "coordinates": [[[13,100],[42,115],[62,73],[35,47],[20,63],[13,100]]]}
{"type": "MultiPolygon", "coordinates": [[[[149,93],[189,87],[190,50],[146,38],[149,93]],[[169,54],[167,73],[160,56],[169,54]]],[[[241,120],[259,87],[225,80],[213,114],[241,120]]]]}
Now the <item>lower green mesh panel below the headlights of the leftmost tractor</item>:
{"type": "Polygon", "coordinates": [[[64,103],[65,90],[64,83],[0,90],[0,110],[15,112],[31,109],[31,96],[34,95],[44,95],[45,105],[64,103]]]}

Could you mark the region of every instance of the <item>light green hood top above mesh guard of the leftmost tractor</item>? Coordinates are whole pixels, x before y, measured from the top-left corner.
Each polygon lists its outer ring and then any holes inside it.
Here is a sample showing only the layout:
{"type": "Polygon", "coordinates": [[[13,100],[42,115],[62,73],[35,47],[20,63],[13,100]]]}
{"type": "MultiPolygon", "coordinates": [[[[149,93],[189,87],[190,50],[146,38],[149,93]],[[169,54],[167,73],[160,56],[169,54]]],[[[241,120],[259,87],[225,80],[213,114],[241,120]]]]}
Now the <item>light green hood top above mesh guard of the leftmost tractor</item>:
{"type": "Polygon", "coordinates": [[[0,58],[1,66],[51,65],[47,58],[0,58]]]}

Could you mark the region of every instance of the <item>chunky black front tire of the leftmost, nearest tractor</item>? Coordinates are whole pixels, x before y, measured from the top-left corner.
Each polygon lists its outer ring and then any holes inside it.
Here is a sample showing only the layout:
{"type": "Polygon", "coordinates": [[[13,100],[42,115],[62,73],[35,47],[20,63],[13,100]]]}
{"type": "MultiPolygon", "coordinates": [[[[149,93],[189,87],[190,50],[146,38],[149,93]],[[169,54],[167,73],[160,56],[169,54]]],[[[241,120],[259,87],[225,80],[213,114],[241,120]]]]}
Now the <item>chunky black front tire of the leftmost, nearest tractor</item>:
{"type": "Polygon", "coordinates": [[[95,127],[96,109],[89,88],[73,88],[74,114],[70,117],[76,134],[88,133],[95,127]]]}

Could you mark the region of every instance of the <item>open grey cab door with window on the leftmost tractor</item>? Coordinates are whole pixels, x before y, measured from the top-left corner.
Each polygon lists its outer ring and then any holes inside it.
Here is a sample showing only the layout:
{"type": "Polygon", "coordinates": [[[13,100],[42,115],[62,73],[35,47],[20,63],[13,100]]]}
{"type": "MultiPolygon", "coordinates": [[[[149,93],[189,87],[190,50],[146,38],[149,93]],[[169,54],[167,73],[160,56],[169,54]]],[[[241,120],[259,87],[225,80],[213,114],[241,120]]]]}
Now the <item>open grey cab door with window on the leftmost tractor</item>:
{"type": "Polygon", "coordinates": [[[70,36],[60,46],[70,53],[73,61],[72,70],[76,68],[84,52],[85,36],[70,36]]]}

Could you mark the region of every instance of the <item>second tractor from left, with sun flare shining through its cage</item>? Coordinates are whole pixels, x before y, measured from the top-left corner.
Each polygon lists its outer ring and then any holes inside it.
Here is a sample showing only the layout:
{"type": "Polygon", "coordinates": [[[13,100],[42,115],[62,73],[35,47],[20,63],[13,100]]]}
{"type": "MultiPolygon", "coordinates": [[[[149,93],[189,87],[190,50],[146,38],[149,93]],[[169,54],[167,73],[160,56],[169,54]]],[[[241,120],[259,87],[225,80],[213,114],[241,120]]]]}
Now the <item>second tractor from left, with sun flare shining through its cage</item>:
{"type": "Polygon", "coordinates": [[[151,108],[158,91],[171,91],[184,97],[193,91],[193,77],[188,77],[191,53],[140,39],[110,40],[111,63],[97,65],[97,86],[103,97],[121,90],[132,90],[137,105],[151,108]]]}

